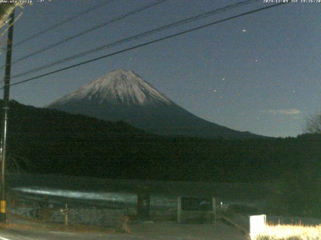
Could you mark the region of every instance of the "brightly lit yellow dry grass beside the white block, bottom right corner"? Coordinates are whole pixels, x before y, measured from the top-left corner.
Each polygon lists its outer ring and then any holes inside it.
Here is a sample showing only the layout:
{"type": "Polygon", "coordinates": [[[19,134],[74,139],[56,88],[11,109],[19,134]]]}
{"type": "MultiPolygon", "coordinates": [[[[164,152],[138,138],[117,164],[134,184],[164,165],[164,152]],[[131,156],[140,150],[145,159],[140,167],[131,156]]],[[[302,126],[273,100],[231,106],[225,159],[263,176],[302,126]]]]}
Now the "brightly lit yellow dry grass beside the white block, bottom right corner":
{"type": "Polygon", "coordinates": [[[321,240],[321,225],[266,225],[255,240],[321,240]]]}

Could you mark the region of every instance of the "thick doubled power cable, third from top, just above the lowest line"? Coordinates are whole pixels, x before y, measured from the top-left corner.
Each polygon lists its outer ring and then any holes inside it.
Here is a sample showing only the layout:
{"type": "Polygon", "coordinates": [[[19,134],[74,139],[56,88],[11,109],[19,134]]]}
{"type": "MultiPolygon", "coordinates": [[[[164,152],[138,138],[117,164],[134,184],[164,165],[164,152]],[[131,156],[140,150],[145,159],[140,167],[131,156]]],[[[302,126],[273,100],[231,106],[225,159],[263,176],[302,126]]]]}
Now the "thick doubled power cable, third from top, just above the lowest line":
{"type": "MultiPolygon", "coordinates": [[[[85,51],[85,52],[82,52],[82,53],[78,53],[78,54],[76,54],[76,55],[73,55],[73,56],[70,56],[70,57],[67,57],[67,58],[58,60],[58,61],[56,61],[56,62],[47,64],[47,65],[43,65],[43,66],[40,66],[40,67],[31,69],[31,70],[29,70],[29,71],[25,71],[25,72],[18,73],[17,75],[12,76],[12,78],[24,76],[24,75],[27,75],[27,74],[30,74],[30,73],[33,73],[33,72],[37,72],[37,71],[40,71],[40,70],[43,70],[43,69],[46,69],[46,68],[49,68],[49,67],[52,67],[52,66],[55,66],[55,65],[58,65],[58,64],[61,64],[61,63],[70,61],[70,60],[77,59],[77,58],[79,58],[79,57],[82,57],[82,56],[85,56],[85,55],[88,55],[88,54],[91,54],[91,53],[95,53],[95,52],[98,52],[98,51],[101,51],[101,50],[104,50],[104,49],[107,49],[107,48],[110,48],[110,47],[113,47],[113,46],[116,46],[116,45],[119,45],[119,44],[122,44],[122,43],[125,43],[125,42],[129,42],[129,41],[132,41],[132,40],[136,40],[136,39],[139,39],[139,38],[141,38],[141,37],[148,36],[148,35],[150,35],[150,34],[153,34],[153,33],[159,32],[159,31],[163,31],[163,30],[165,30],[165,29],[169,29],[169,28],[172,28],[172,27],[175,27],[175,26],[179,26],[179,25],[182,25],[182,24],[185,24],[185,23],[188,23],[188,22],[196,21],[196,20],[199,20],[199,19],[208,17],[208,16],[210,16],[210,15],[217,14],[217,13],[219,13],[219,12],[232,9],[232,8],[234,8],[234,7],[239,7],[239,6],[241,6],[241,5],[249,4],[249,3],[252,3],[252,2],[255,2],[255,1],[259,1],[259,0],[246,0],[246,1],[241,1],[241,2],[238,2],[238,3],[232,4],[232,5],[228,5],[228,6],[225,6],[225,7],[222,7],[222,8],[218,8],[218,9],[214,9],[214,10],[211,10],[211,11],[208,11],[208,12],[205,12],[205,13],[202,13],[202,14],[199,14],[199,15],[196,15],[196,16],[192,16],[192,17],[189,17],[189,18],[185,18],[185,19],[183,19],[183,20],[180,20],[180,21],[177,21],[177,22],[174,22],[174,23],[165,25],[165,26],[161,26],[161,27],[158,27],[158,28],[154,28],[154,29],[152,29],[152,30],[145,31],[145,32],[143,32],[143,33],[140,33],[140,34],[137,34],[137,35],[133,35],[133,36],[131,36],[131,37],[126,37],[126,38],[123,38],[123,39],[121,39],[121,40],[118,40],[118,41],[115,41],[115,42],[112,42],[112,43],[109,43],[109,44],[102,45],[102,46],[100,46],[100,47],[91,49],[91,50],[89,50],[89,51],[85,51]]],[[[0,82],[1,82],[1,81],[0,81],[0,82]]]]}

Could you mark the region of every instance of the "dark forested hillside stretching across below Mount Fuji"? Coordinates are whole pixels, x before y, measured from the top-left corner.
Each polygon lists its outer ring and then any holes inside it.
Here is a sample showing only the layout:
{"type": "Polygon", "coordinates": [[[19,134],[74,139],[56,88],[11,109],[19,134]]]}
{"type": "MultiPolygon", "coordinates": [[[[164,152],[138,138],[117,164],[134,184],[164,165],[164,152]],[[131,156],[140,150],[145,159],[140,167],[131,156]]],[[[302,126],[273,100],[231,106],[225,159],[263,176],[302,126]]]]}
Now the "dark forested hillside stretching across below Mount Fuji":
{"type": "Polygon", "coordinates": [[[319,134],[249,140],[158,136],[121,121],[10,102],[8,153],[30,159],[34,173],[225,182],[302,172],[317,177],[320,143],[319,134]]]}

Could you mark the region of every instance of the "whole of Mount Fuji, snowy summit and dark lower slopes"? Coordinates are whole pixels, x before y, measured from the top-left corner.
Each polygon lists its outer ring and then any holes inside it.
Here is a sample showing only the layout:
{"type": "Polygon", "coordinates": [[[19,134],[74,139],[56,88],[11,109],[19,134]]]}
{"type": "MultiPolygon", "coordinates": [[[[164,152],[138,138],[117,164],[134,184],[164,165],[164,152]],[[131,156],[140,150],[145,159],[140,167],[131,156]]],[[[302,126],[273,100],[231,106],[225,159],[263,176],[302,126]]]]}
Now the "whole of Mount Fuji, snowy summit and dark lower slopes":
{"type": "Polygon", "coordinates": [[[46,105],[104,120],[123,120],[150,133],[205,138],[262,137],[204,120],[179,106],[133,71],[117,69],[46,105]]]}

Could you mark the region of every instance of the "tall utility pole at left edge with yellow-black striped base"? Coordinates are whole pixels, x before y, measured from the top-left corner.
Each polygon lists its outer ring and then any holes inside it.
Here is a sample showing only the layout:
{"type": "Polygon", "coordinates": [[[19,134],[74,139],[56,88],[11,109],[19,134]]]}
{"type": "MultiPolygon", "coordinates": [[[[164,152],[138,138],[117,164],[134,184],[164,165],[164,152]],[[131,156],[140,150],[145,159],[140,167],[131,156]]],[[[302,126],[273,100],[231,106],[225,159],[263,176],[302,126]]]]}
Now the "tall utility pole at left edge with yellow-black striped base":
{"type": "Polygon", "coordinates": [[[13,40],[13,34],[14,34],[15,9],[13,9],[9,17],[10,17],[10,20],[9,20],[8,41],[7,41],[6,73],[5,73],[1,151],[0,151],[1,152],[1,155],[0,155],[0,160],[1,160],[0,222],[5,222],[7,218],[5,169],[6,169],[6,147],[7,147],[7,125],[8,125],[8,110],[9,110],[11,53],[12,53],[12,40],[13,40]]]}

